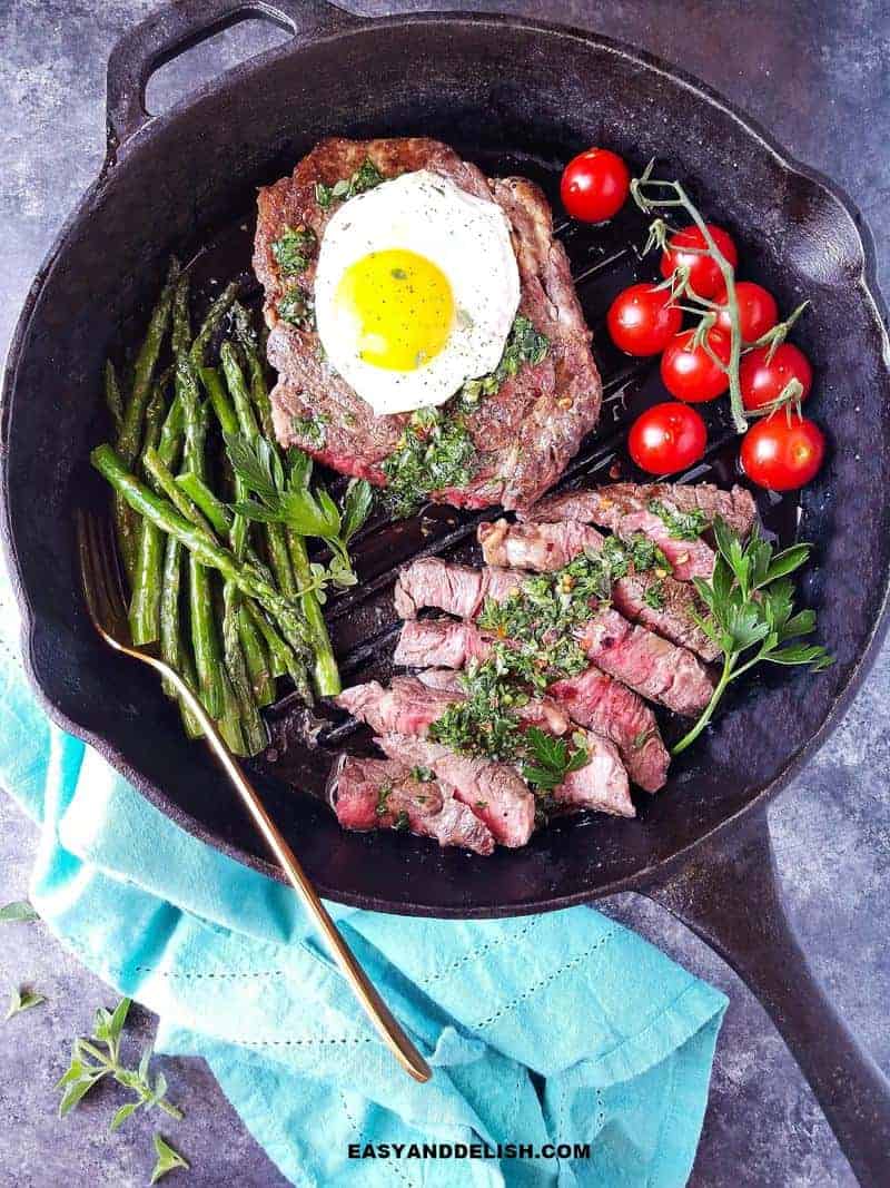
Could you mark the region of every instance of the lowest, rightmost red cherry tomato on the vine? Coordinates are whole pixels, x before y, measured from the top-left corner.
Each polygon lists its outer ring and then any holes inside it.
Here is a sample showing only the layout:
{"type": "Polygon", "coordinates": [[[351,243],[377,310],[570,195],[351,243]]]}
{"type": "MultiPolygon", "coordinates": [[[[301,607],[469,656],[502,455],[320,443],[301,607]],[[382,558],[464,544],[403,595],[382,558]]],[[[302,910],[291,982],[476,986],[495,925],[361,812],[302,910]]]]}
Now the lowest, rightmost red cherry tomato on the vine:
{"type": "Polygon", "coordinates": [[[814,421],[780,409],[758,421],[742,440],[742,466],[749,479],[770,491],[796,491],[819,473],[825,436],[814,421]]]}

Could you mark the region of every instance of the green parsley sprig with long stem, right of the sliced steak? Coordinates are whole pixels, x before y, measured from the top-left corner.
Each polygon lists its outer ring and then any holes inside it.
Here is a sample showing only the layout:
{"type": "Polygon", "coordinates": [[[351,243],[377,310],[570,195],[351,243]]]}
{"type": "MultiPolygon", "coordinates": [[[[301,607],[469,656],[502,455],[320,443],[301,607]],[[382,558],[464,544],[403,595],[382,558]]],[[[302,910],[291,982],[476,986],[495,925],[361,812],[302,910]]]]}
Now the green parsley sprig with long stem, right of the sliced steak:
{"type": "Polygon", "coordinates": [[[718,552],[713,575],[710,581],[695,579],[708,614],[695,618],[723,651],[723,671],[707,708],[673,748],[674,754],[695,741],[727,685],[756,664],[806,664],[818,672],[833,663],[825,647],[801,642],[815,630],[815,612],[794,613],[789,574],[805,563],[810,545],[794,544],[774,552],[756,525],[748,544],[743,544],[719,518],[714,522],[714,539],[718,552]]]}

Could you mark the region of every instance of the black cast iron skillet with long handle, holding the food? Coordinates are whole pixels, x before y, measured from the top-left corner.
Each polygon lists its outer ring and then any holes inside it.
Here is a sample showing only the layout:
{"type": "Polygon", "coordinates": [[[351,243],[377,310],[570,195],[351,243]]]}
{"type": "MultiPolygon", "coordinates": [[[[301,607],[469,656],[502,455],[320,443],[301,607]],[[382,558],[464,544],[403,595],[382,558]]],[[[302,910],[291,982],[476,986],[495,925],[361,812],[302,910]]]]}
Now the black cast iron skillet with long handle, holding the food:
{"type": "MultiPolygon", "coordinates": [[[[184,0],[115,49],[108,127],[106,166],[34,282],[5,375],[2,529],[26,662],[57,723],[184,828],[273,874],[203,750],[185,744],[153,680],[100,645],[78,594],[71,511],[107,499],[85,462],[107,431],[102,360],[144,316],[169,253],[187,258],[218,235],[250,210],[258,184],[332,132],[440,135],[489,169],[519,168],[545,183],[580,147],[604,143],[635,165],[668,157],[672,175],[738,235],[749,274],[768,276],[783,308],[813,298],[801,339],[818,368],[832,453],[801,500],[800,536],[818,545],[806,598],[834,668],[743,693],[676,765],[669,788],[641,803],[637,821],[564,824],[488,860],[402,836],[344,834],[326,808],[280,779],[268,779],[267,791],[332,899],[453,917],[551,910],[621,889],[663,903],[761,997],[862,1182],[885,1181],[888,1083],[807,971],[765,824],[769,798],[848,704],[886,599],[890,355],[867,235],[850,203],[701,84],[602,38],[513,18],[361,20],[323,0],[184,0]],[[299,37],[150,118],[152,70],[246,15],[299,37]]],[[[596,245],[593,253],[596,261],[596,245]]],[[[443,530],[440,519],[431,523],[443,530]]],[[[375,555],[405,549],[390,531],[369,545],[368,564],[380,568],[375,555]]],[[[341,619],[356,638],[374,628],[360,608],[341,619]]],[[[285,770],[317,781],[316,757],[281,758],[285,770]]]]}

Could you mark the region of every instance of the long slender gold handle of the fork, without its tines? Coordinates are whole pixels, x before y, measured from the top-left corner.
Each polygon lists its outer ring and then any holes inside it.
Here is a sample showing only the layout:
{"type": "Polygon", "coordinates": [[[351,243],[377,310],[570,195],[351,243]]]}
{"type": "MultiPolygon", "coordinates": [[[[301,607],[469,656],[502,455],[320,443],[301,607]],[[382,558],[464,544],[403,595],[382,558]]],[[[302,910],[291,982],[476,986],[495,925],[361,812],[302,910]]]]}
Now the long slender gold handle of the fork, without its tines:
{"type": "Polygon", "coordinates": [[[145,658],[159,672],[167,676],[172,681],[177,691],[187,703],[189,709],[191,709],[201,722],[210,750],[214,752],[220,766],[229,777],[229,782],[247,807],[247,810],[253,817],[256,828],[262,834],[266,845],[281,865],[291,886],[303,901],[304,906],[314,918],[319,931],[324,936],[330,950],[333,954],[333,959],[343,971],[347,981],[352,987],[352,993],[364,1007],[365,1013],[377,1029],[381,1038],[388,1045],[406,1073],[421,1083],[428,1081],[432,1076],[430,1066],[417,1050],[411,1040],[406,1036],[389,1007],[371,985],[364,969],[362,969],[360,963],[356,961],[352,950],[343,940],[339,929],[331,920],[328,909],[318,897],[318,892],[312,886],[306,872],[297,860],[295,854],[285,841],[275,822],[266,811],[256,789],[241,770],[240,764],[236,762],[231,751],[229,751],[228,746],[220,735],[220,732],[216,728],[216,722],[212,718],[210,718],[201,701],[195,696],[187,682],[185,682],[178,672],[171,669],[163,661],[157,661],[154,657],[150,656],[145,656],[145,658]]]}

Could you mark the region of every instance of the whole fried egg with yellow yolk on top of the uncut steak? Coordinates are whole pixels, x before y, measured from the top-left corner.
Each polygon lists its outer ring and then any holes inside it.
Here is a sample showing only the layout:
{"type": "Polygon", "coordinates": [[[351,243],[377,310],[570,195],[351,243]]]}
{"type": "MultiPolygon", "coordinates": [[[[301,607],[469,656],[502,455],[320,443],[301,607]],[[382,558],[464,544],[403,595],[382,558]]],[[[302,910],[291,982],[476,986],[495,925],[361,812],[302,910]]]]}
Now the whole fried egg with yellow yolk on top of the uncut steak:
{"type": "Polygon", "coordinates": [[[379,415],[444,404],[497,367],[520,301],[507,216],[430,170],[360,194],[325,228],[316,324],[379,415]]]}

